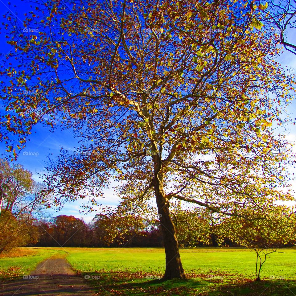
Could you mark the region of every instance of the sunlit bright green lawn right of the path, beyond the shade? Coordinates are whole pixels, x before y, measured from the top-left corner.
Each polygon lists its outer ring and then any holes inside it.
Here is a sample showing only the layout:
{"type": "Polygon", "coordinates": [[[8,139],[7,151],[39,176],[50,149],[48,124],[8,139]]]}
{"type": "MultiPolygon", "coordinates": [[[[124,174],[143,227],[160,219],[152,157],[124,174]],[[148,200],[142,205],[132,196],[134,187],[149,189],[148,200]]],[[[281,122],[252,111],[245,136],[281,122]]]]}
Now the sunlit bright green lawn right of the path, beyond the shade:
{"type": "MultiPolygon", "coordinates": [[[[162,248],[63,248],[74,269],[88,271],[131,271],[164,273],[165,254],[162,248]]],[[[261,277],[296,279],[296,248],[279,249],[270,255],[261,277]]],[[[207,273],[210,270],[238,273],[254,278],[256,253],[243,248],[181,249],[185,272],[207,273]]]]}

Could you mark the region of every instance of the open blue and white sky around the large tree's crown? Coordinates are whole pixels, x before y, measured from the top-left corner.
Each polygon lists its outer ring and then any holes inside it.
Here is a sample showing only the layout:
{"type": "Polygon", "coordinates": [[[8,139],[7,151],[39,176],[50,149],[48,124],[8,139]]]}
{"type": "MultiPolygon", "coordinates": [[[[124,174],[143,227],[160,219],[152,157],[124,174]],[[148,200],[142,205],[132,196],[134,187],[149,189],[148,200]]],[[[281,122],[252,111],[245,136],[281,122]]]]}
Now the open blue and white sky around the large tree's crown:
{"type": "MultiPolygon", "coordinates": [[[[28,12],[32,10],[30,6],[23,1],[10,1],[11,5],[8,5],[7,2],[2,2],[2,13],[8,11],[9,9],[12,10],[13,13],[15,11],[19,12],[18,17],[20,19],[24,19],[23,13],[28,12]],[[14,7],[16,5],[16,7],[14,7]]],[[[2,21],[6,23],[6,20],[3,19],[1,16],[1,23],[2,21]]],[[[1,39],[1,49],[0,52],[2,54],[7,54],[11,47],[10,45],[6,44],[6,38],[5,38],[5,31],[2,28],[2,33],[0,35],[1,39]]],[[[293,32],[289,32],[289,34],[294,35],[294,40],[296,40],[296,34],[293,32]]],[[[293,40],[293,36],[291,36],[291,40],[293,40]]],[[[3,56],[0,57],[0,63],[2,63],[3,56]]],[[[283,67],[288,66],[291,68],[292,72],[296,73],[296,56],[293,55],[290,52],[285,51],[280,57],[279,61],[282,63],[283,67]]],[[[296,101],[294,101],[289,109],[289,113],[292,113],[292,117],[296,118],[296,101]]],[[[295,142],[296,139],[296,128],[294,125],[291,125],[288,127],[288,139],[291,142],[295,142]]],[[[18,162],[22,164],[26,169],[31,171],[33,173],[33,178],[36,181],[40,181],[40,176],[38,174],[41,174],[44,172],[44,167],[46,166],[46,162],[48,161],[47,156],[49,154],[52,158],[54,158],[55,155],[59,154],[60,147],[66,148],[66,149],[75,149],[77,147],[77,139],[74,138],[74,136],[71,133],[71,130],[64,130],[61,131],[59,128],[56,129],[55,133],[51,133],[46,127],[43,127],[43,125],[37,125],[35,126],[32,135],[30,136],[30,142],[27,143],[26,147],[23,149],[23,151],[20,153],[18,162]],[[35,133],[36,132],[36,133],[35,133]]],[[[5,145],[3,143],[0,143],[0,154],[4,153],[5,145]]],[[[296,187],[294,187],[296,189],[296,187]]],[[[108,206],[116,206],[118,204],[119,198],[114,195],[113,189],[110,188],[109,190],[105,191],[105,199],[98,200],[99,203],[103,205],[108,206]]],[[[61,210],[59,213],[56,213],[53,209],[48,210],[51,212],[53,216],[57,216],[60,214],[65,215],[73,215],[76,217],[83,217],[85,221],[90,221],[92,217],[95,215],[88,214],[87,216],[81,215],[79,213],[80,204],[82,204],[82,201],[76,201],[72,203],[68,203],[64,206],[63,210],[61,210]]]]}

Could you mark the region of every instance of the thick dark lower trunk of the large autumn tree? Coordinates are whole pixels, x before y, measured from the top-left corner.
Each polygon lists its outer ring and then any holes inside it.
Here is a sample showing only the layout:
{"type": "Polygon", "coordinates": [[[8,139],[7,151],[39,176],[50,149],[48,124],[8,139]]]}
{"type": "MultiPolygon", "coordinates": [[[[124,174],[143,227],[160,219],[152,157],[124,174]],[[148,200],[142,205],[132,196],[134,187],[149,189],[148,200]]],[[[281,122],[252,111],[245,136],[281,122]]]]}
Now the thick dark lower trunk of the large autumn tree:
{"type": "Polygon", "coordinates": [[[164,280],[171,278],[185,279],[175,232],[175,225],[171,220],[169,204],[163,191],[163,175],[158,173],[154,178],[154,191],[158,207],[158,215],[162,228],[162,236],[166,253],[166,271],[164,280]]]}

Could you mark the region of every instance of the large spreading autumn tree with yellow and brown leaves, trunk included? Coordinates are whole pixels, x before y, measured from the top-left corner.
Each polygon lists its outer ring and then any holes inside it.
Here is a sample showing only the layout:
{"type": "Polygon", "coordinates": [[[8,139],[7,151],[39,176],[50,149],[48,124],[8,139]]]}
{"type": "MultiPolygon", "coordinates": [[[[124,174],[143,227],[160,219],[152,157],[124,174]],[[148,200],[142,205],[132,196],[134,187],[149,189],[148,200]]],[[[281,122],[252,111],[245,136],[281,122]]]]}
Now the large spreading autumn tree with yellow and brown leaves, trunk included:
{"type": "Polygon", "coordinates": [[[2,139],[16,156],[43,122],[82,140],[48,167],[57,205],[86,197],[92,210],[112,179],[127,209],[154,197],[168,279],[185,277],[171,200],[254,219],[292,199],[277,189],[289,146],[273,128],[294,78],[275,61],[279,36],[258,21],[265,6],[36,3],[23,23],[6,15],[2,139]]]}

